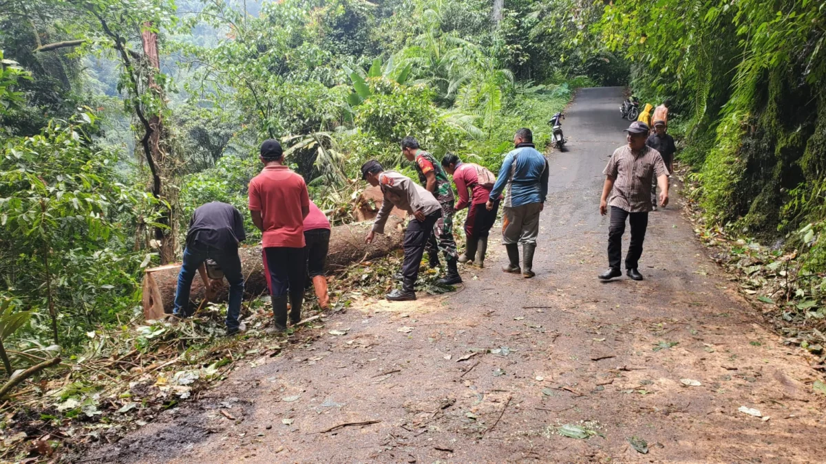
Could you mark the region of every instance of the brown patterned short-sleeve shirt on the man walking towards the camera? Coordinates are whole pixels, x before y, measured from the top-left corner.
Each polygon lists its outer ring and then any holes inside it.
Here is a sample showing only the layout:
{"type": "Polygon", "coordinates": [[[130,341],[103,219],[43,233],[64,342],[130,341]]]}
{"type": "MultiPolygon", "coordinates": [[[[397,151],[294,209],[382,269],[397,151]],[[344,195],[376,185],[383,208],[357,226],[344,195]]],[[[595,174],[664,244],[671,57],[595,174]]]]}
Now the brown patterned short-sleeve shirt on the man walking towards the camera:
{"type": "Polygon", "coordinates": [[[653,209],[653,179],[668,175],[668,169],[657,150],[646,146],[634,154],[629,146],[625,145],[614,151],[602,173],[614,179],[614,189],[611,191],[608,204],[629,213],[639,213],[653,209]]]}

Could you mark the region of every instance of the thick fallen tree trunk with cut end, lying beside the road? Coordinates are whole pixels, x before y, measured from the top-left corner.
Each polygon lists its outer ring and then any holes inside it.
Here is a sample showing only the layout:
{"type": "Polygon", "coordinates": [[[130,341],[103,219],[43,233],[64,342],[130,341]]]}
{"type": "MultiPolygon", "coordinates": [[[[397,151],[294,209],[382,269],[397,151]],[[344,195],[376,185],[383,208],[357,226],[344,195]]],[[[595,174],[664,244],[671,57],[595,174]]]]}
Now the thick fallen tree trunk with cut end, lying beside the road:
{"type": "MultiPolygon", "coordinates": [[[[363,260],[379,258],[401,247],[403,235],[401,219],[391,216],[387,220],[387,234],[377,234],[373,244],[365,244],[372,222],[337,225],[330,233],[330,251],[327,253],[328,273],[349,267],[363,260]]],[[[243,247],[238,250],[241,258],[241,272],[244,273],[244,298],[254,298],[267,291],[267,281],[263,275],[261,247],[243,247]]],[[[158,320],[164,314],[172,313],[175,290],[178,286],[178,271],[181,263],[168,264],[159,268],[146,270],[143,284],[144,317],[146,320],[158,320]]],[[[190,305],[204,298],[204,286],[201,277],[192,280],[190,305]]],[[[216,301],[226,301],[227,288],[221,289],[216,301]]],[[[196,303],[197,304],[197,303],[196,303]]]]}

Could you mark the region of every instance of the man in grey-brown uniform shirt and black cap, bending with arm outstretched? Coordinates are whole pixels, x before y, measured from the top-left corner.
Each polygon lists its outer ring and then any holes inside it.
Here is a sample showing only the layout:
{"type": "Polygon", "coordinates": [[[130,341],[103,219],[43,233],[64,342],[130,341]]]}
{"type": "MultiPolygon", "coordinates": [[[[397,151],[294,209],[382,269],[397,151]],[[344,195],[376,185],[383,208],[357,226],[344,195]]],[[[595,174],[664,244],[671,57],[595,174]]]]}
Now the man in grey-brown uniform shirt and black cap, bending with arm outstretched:
{"type": "Polygon", "coordinates": [[[382,209],[378,211],[373,229],[365,241],[373,242],[375,234],[384,233],[384,225],[393,206],[413,215],[405,230],[405,260],[401,265],[402,287],[387,294],[388,301],[415,300],[415,281],[419,277],[419,265],[425,247],[433,233],[436,221],[442,217],[442,206],[432,193],[395,171],[385,171],[375,159],[362,165],[362,178],[373,187],[380,187],[384,195],[382,209]]]}

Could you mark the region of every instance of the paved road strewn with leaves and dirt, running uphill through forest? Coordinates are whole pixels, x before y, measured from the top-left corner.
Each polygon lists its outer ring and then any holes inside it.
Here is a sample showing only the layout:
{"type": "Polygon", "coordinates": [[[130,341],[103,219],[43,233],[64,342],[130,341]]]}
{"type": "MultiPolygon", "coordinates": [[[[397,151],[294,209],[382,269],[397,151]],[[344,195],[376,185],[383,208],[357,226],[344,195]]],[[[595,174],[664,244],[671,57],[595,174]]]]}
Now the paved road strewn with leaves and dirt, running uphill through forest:
{"type": "Polygon", "coordinates": [[[640,261],[646,280],[597,281],[607,239],[601,172],[624,144],[621,101],[619,88],[582,89],[567,111],[567,152],[549,155],[537,277],[500,272],[505,253],[491,236],[489,267],[464,268],[459,291],[363,301],[313,329],[313,343],[240,367],[211,399],[162,414],[88,457],[822,462],[824,398],[812,392],[814,371],[757,324],[696,243],[675,195],[651,215],[640,261]],[[222,402],[237,420],[219,412],[222,402]],[[379,422],[324,432],[369,421],[379,422]],[[563,424],[598,434],[569,438],[557,433],[563,424]],[[648,454],[634,450],[632,437],[648,443],[648,454]]]}

